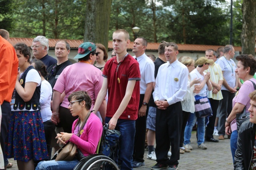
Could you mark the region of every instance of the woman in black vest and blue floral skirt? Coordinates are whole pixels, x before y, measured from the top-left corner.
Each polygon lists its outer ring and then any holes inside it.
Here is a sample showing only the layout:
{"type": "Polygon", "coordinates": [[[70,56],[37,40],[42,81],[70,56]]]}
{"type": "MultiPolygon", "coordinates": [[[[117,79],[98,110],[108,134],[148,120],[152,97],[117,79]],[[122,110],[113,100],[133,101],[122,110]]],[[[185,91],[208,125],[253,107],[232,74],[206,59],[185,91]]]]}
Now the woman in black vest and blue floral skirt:
{"type": "Polygon", "coordinates": [[[30,65],[30,49],[24,43],[14,45],[19,60],[11,102],[6,139],[7,158],[17,160],[18,169],[34,170],[34,161],[48,159],[44,126],[40,113],[41,77],[30,65]]]}

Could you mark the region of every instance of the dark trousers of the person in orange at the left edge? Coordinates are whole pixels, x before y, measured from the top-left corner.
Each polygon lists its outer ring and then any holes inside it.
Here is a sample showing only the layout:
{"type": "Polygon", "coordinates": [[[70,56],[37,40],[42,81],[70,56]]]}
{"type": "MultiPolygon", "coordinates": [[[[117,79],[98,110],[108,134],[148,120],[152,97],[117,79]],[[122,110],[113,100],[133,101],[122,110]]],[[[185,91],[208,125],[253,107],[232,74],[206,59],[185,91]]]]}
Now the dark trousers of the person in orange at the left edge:
{"type": "Polygon", "coordinates": [[[7,131],[9,128],[9,120],[10,120],[10,116],[11,116],[10,102],[4,101],[1,105],[1,110],[2,110],[2,120],[1,120],[0,144],[1,144],[3,154],[4,154],[4,166],[7,166],[8,159],[6,157],[6,154],[4,153],[4,148],[5,148],[4,142],[8,135],[7,131]]]}

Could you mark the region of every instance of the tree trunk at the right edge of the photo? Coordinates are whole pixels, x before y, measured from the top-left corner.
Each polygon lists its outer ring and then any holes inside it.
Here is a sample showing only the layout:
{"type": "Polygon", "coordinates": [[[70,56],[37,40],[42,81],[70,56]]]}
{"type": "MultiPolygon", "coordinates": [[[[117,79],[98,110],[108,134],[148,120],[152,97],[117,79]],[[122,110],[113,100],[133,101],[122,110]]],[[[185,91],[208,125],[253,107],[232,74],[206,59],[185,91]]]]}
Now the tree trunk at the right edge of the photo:
{"type": "Polygon", "coordinates": [[[242,28],[242,54],[255,56],[255,32],[256,32],[256,0],[244,0],[242,4],[243,28],[242,28]]]}

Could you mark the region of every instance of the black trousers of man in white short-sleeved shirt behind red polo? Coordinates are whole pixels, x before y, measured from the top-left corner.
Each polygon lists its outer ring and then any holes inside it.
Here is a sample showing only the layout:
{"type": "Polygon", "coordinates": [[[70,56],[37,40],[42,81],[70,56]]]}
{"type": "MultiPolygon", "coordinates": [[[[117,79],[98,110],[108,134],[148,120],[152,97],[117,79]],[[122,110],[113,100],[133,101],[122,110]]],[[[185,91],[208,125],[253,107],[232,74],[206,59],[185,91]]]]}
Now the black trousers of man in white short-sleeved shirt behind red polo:
{"type": "MultiPolygon", "coordinates": [[[[140,104],[139,110],[144,102],[144,94],[140,94],[140,104]]],[[[133,150],[133,160],[138,162],[144,162],[144,152],[145,152],[145,139],[146,139],[146,120],[148,116],[148,108],[146,110],[146,116],[138,117],[135,121],[135,137],[134,137],[134,150],[133,150]]]]}

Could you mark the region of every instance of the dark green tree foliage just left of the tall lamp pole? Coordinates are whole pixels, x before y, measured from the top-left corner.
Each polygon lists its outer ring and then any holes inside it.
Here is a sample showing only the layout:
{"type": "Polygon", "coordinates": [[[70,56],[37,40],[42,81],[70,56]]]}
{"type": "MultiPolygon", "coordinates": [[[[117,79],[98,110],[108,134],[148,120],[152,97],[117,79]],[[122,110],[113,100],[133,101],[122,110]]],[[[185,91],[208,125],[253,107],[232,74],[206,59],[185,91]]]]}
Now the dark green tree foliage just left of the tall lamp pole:
{"type": "Polygon", "coordinates": [[[176,43],[225,45],[228,15],[215,0],[163,0],[169,6],[168,39],[176,43]]]}

